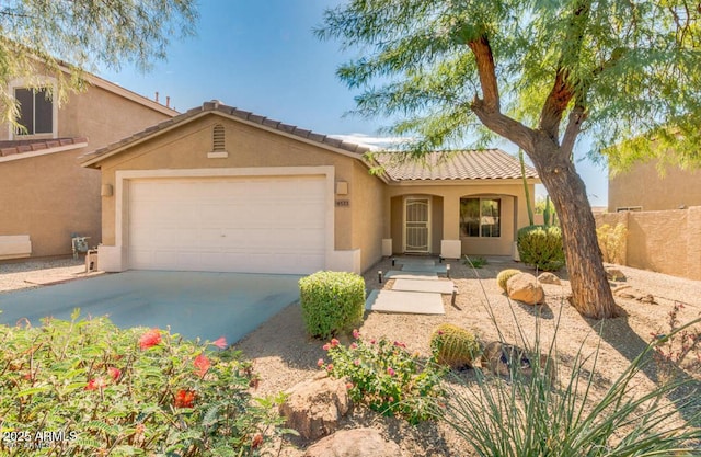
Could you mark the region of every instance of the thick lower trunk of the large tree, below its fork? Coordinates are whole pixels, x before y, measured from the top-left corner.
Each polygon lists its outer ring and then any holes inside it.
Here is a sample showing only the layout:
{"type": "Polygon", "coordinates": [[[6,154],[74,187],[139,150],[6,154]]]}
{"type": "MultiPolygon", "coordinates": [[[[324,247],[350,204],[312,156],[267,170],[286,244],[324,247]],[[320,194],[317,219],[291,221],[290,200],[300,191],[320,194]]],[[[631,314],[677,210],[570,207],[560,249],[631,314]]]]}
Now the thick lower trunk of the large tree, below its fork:
{"type": "Polygon", "coordinates": [[[604,270],[584,182],[570,158],[547,142],[539,141],[529,156],[560,217],[572,305],[587,318],[613,318],[617,307],[604,270]]]}

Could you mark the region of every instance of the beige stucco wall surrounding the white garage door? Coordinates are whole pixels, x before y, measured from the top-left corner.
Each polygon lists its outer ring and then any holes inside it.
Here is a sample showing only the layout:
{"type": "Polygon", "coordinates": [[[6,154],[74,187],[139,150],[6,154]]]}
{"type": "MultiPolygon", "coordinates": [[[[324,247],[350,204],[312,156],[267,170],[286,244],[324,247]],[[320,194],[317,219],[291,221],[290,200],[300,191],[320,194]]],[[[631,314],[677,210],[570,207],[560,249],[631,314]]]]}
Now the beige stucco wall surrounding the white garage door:
{"type": "MultiPolygon", "coordinates": [[[[337,196],[337,199],[349,201],[348,207],[334,208],[334,249],[361,249],[365,269],[375,262],[378,255],[382,226],[376,217],[367,221],[359,220],[355,224],[361,231],[367,229],[368,235],[366,236],[365,231],[357,233],[354,230],[354,217],[356,213],[361,215],[360,209],[364,207],[369,208],[370,214],[381,214],[381,198],[377,198],[381,192],[381,182],[375,176],[366,175],[367,168],[356,162],[354,158],[313,144],[211,114],[106,158],[101,162],[101,169],[103,183],[116,187],[118,170],[333,167],[335,182],[348,183],[348,194],[337,196]],[[227,158],[207,157],[212,150],[215,125],[225,127],[227,158]],[[359,180],[361,184],[358,185],[355,180],[359,180]],[[374,235],[376,232],[377,237],[374,235]]],[[[115,204],[115,196],[103,197],[103,241],[108,245],[117,243],[115,204]]],[[[124,210],[126,208],[123,208],[124,210]]]]}

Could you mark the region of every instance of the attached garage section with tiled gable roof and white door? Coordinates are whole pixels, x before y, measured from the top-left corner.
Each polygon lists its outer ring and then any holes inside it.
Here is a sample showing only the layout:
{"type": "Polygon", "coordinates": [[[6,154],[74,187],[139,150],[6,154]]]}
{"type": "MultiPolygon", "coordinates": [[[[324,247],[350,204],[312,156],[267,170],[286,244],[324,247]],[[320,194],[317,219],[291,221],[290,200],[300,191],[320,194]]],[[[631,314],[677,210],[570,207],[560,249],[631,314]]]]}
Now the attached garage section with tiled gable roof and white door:
{"type": "Polygon", "coordinates": [[[381,256],[367,148],[216,102],[90,152],[104,271],[361,272],[381,256]]]}

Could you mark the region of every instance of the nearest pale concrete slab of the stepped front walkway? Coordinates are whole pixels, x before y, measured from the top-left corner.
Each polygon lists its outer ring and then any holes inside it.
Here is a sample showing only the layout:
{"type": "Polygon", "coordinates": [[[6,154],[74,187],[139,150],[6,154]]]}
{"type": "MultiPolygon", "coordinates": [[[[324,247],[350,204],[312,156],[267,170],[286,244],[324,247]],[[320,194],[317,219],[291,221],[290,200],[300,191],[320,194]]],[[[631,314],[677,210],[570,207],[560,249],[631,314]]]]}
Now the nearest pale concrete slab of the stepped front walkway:
{"type": "Polygon", "coordinates": [[[365,301],[365,309],[379,312],[411,315],[445,315],[440,294],[403,290],[372,290],[365,301]]]}

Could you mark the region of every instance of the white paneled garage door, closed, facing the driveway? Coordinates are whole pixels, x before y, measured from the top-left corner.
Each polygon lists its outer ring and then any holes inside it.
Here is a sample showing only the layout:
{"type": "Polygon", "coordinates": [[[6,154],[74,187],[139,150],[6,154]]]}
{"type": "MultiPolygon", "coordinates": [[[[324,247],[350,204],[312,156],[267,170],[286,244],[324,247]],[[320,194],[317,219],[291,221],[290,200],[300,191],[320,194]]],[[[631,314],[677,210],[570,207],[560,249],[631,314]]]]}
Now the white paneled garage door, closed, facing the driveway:
{"type": "Polygon", "coordinates": [[[324,266],[323,176],[135,180],[136,270],[313,273],[324,266]]]}

